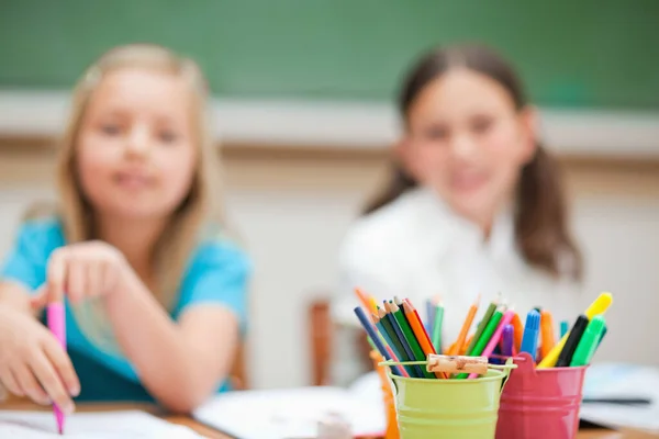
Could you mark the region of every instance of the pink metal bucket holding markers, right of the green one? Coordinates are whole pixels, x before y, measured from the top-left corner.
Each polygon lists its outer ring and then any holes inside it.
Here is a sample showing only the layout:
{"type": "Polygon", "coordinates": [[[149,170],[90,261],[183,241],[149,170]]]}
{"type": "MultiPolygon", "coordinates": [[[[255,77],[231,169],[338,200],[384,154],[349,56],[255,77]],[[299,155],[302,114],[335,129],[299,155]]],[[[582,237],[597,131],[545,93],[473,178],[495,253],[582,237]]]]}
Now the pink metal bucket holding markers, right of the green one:
{"type": "Polygon", "coordinates": [[[517,369],[501,395],[496,438],[576,438],[587,367],[536,369],[526,352],[514,362],[517,369]]]}

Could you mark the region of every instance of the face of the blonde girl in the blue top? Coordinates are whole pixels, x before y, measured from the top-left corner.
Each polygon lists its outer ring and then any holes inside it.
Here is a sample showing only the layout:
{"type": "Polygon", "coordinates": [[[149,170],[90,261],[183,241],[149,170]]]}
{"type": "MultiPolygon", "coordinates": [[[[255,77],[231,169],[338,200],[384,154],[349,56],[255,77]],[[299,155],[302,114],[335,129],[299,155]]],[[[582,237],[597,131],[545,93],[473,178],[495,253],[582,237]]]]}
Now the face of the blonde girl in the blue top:
{"type": "Polygon", "coordinates": [[[187,196],[197,148],[191,93],[177,76],[109,72],[94,91],[77,144],[77,170],[96,212],[164,218],[187,196]]]}

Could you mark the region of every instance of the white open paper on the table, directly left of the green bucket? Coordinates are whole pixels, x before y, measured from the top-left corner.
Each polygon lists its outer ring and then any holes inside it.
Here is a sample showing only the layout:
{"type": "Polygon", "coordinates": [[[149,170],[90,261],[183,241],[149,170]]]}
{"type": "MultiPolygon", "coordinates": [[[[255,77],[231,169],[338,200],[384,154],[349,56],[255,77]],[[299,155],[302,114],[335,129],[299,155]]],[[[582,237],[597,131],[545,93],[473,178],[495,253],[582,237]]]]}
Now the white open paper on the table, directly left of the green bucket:
{"type": "Polygon", "coordinates": [[[336,414],[355,436],[386,429],[382,404],[369,404],[339,387],[302,387],[231,392],[215,396],[193,413],[197,420],[241,439],[313,438],[319,423],[336,414]]]}

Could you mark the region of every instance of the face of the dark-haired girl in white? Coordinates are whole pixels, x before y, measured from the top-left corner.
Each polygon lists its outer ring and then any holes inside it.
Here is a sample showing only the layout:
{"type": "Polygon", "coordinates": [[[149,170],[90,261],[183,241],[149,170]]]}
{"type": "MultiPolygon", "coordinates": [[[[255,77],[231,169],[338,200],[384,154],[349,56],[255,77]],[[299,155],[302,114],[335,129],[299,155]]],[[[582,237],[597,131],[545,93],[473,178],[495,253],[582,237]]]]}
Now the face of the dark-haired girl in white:
{"type": "Polygon", "coordinates": [[[467,69],[428,83],[407,122],[399,147],[407,170],[481,224],[510,200],[535,149],[530,111],[516,111],[501,85],[467,69]]]}

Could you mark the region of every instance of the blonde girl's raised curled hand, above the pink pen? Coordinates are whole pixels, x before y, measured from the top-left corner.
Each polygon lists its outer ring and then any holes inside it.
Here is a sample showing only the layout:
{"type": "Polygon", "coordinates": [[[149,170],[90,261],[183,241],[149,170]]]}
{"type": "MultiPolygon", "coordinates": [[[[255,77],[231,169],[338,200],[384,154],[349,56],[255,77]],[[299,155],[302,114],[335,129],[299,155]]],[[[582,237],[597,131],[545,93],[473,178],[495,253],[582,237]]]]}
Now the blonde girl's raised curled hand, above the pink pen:
{"type": "Polygon", "coordinates": [[[72,303],[112,294],[134,275],[124,256],[102,241],[58,248],[48,260],[47,282],[32,300],[35,307],[60,302],[66,293],[72,303]]]}

